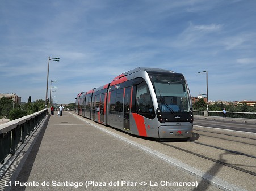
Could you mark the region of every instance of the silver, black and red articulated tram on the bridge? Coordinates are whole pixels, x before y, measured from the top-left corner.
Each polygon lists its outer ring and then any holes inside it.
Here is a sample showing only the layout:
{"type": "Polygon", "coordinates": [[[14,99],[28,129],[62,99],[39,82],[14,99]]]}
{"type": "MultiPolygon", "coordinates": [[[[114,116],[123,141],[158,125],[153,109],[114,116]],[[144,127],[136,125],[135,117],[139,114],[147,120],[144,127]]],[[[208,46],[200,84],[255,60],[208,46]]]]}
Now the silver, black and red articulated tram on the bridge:
{"type": "Polygon", "coordinates": [[[79,93],[75,103],[76,114],[137,136],[159,140],[192,136],[191,96],[181,73],[135,68],[79,93]]]}

